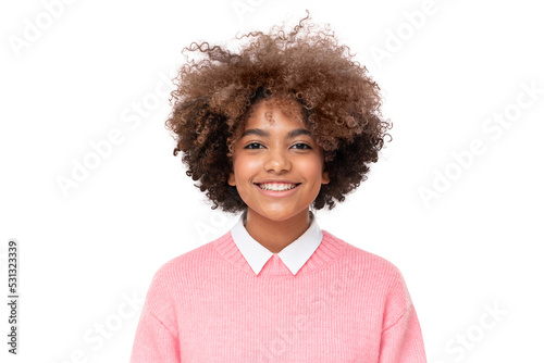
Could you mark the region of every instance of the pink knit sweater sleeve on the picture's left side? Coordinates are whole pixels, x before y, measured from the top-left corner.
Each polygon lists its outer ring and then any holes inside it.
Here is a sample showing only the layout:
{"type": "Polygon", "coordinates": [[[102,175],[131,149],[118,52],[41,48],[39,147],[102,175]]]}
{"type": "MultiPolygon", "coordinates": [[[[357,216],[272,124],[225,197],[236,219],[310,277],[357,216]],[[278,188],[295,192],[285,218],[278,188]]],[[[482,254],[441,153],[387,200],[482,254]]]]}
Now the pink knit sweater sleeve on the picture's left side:
{"type": "Polygon", "coordinates": [[[147,292],[136,329],[131,363],[181,363],[180,341],[170,304],[165,266],[157,272],[147,292]]]}

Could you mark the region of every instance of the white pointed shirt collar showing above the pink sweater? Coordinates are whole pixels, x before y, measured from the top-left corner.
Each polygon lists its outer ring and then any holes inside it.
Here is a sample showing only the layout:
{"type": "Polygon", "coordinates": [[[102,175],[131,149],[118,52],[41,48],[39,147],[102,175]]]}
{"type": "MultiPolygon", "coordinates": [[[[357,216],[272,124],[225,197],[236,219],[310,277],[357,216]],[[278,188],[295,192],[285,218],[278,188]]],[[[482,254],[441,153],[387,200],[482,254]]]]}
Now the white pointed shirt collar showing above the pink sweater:
{"type": "MultiPolygon", "coordinates": [[[[244,225],[244,214],[239,216],[238,222],[231,229],[231,235],[238,250],[242,252],[249,266],[251,266],[251,270],[256,275],[259,275],[259,272],[274,253],[256,241],[248,234],[244,225]]],[[[289,268],[293,275],[296,275],[318,249],[322,238],[323,233],[316,221],[316,216],[310,211],[310,226],[308,229],[306,229],[306,231],[295,241],[281,250],[277,256],[287,268],[289,268]]]]}

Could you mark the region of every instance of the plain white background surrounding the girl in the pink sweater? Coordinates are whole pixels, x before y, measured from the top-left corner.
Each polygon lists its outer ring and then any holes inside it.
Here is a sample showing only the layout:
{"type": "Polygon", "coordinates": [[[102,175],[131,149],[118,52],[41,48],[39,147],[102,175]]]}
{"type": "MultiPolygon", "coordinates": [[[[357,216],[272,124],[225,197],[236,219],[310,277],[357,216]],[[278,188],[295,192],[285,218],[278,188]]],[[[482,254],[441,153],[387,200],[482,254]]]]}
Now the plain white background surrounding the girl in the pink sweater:
{"type": "Polygon", "coordinates": [[[2,2],[0,300],[14,238],[21,301],[15,358],[1,303],[0,360],[128,361],[154,272],[237,220],[212,212],[172,155],[170,105],[156,88],[169,90],[191,41],[293,26],[309,9],[368,67],[394,124],[369,179],[318,212],[321,228],[400,268],[429,362],[543,362],[544,23],[535,3],[2,2]],[[413,15],[422,10],[424,18],[413,15]],[[533,99],[523,85],[536,89],[533,99]],[[507,126],[493,121],[500,115],[507,126]],[[63,192],[59,178],[73,179],[96,154],[91,145],[115,129],[122,141],[63,192]],[[462,167],[453,154],[473,142],[480,153],[462,167]],[[437,185],[438,174],[448,184],[437,185]],[[421,188],[433,183],[442,189],[425,203],[421,188]]]}

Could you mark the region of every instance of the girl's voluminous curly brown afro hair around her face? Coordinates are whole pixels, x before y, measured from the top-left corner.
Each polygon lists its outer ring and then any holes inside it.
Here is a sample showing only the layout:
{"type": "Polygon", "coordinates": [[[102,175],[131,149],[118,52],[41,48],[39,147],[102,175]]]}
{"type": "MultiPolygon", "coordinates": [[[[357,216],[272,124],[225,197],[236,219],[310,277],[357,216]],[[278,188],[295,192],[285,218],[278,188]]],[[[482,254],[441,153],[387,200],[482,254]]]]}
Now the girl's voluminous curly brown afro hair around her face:
{"type": "MultiPolygon", "coordinates": [[[[225,212],[247,210],[236,187],[227,184],[233,150],[251,108],[261,100],[281,100],[289,113],[296,104],[302,122],[323,149],[331,182],[321,186],[314,210],[335,206],[367,179],[393,124],[382,117],[380,88],[367,68],[351,61],[349,47],[339,46],[329,25],[313,29],[310,15],[289,33],[274,26],[270,34],[250,32],[236,37],[239,51],[193,42],[198,52],[174,78],[173,111],[165,123],[182,151],[187,176],[225,212]]],[[[172,105],[172,98],[170,99],[172,105]]],[[[274,102],[277,103],[277,102],[274,102]]]]}

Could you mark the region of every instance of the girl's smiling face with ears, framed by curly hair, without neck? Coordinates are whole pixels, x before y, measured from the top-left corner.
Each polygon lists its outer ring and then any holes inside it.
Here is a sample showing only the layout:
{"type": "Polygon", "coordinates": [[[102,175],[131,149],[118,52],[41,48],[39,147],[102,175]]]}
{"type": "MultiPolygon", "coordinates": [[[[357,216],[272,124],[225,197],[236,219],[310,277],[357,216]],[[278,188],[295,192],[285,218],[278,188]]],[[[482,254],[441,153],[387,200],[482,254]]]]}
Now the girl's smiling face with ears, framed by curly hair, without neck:
{"type": "Polygon", "coordinates": [[[264,101],[257,103],[234,147],[228,184],[236,186],[248,214],[286,221],[308,211],[329,183],[323,151],[297,114],[288,117],[264,101]]]}

